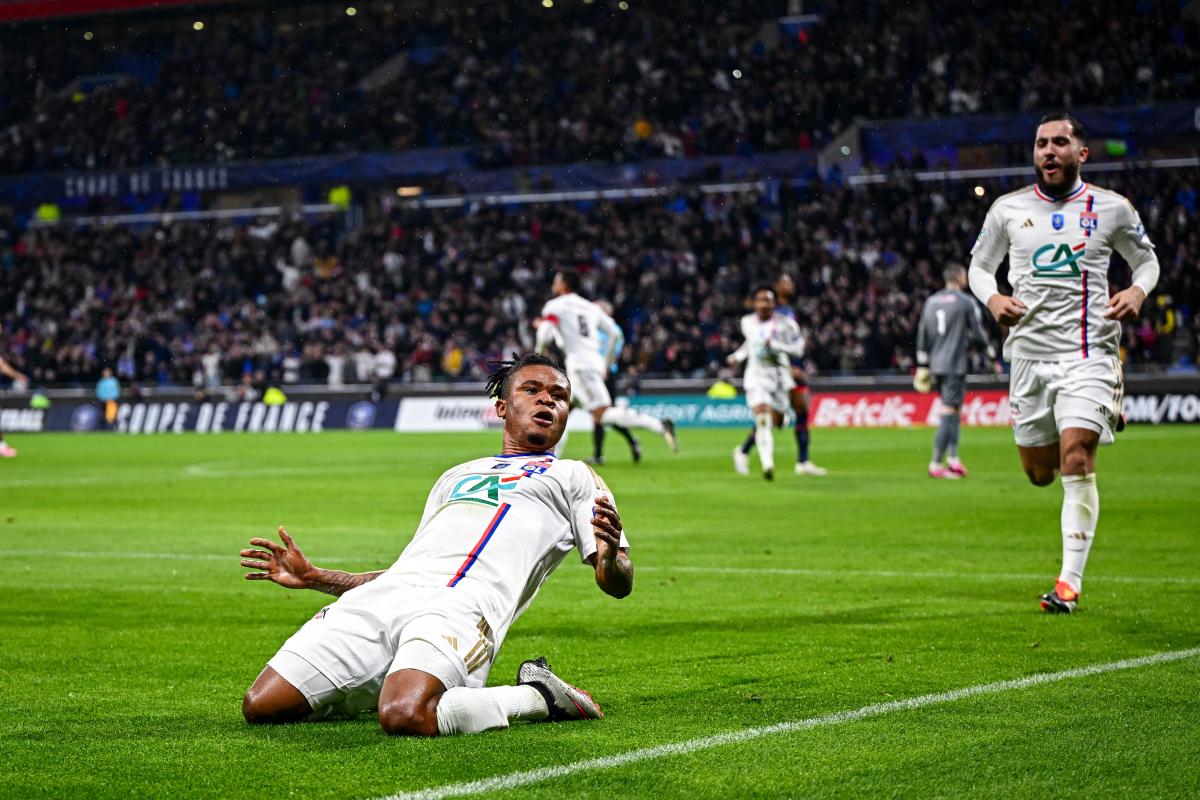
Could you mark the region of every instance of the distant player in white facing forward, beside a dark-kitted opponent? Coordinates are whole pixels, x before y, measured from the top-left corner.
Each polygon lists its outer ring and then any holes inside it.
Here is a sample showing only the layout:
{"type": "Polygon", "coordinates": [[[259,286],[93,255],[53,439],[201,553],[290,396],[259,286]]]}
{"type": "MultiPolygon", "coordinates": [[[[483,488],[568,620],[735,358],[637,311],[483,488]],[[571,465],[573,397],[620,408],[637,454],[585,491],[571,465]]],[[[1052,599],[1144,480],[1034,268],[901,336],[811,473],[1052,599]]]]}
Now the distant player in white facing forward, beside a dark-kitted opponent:
{"type": "MultiPolygon", "coordinates": [[[[727,359],[730,365],[745,363],[744,386],[746,405],[754,414],[752,446],[758,444],[758,461],[762,475],[768,481],[775,477],[775,439],[772,428],[784,425],[784,415],[791,408],[788,393],[796,386],[792,379],[790,357],[804,355],[804,337],[800,326],[791,317],[775,309],[775,290],[760,287],[751,295],[754,312],[742,318],[742,347],[727,359]]],[[[733,467],[746,475],[750,471],[746,444],[733,449],[733,467]]],[[[803,474],[800,464],[797,475],[803,474]]]]}

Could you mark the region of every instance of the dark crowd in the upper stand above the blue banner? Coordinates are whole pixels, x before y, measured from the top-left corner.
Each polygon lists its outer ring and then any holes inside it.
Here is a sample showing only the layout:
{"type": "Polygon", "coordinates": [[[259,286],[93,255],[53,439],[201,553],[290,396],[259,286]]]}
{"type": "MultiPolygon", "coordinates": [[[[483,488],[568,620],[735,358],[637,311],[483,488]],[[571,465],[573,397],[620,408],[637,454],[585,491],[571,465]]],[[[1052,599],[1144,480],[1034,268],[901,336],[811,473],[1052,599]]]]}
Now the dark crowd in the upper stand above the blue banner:
{"type": "Polygon", "coordinates": [[[422,146],[468,146],[479,167],[748,154],[820,146],[854,118],[1200,94],[1177,0],[1120,18],[1080,1],[817,2],[822,22],[797,28],[774,22],[786,4],[751,0],[410,5],[13,29],[0,172],[422,146]]]}

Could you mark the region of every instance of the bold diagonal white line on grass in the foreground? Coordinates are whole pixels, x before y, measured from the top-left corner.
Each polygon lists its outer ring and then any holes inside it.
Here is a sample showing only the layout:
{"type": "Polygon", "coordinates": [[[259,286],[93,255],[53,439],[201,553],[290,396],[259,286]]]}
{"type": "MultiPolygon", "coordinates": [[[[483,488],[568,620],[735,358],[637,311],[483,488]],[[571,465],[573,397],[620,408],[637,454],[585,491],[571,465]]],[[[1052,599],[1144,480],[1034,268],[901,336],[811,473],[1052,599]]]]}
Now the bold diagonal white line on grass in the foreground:
{"type": "Polygon", "coordinates": [[[656,747],[631,750],[613,756],[589,758],[587,760],[572,762],[570,764],[542,766],[540,769],[527,770],[523,772],[509,772],[508,775],[497,775],[494,777],[481,778],[479,781],[449,783],[446,786],[431,787],[418,792],[402,792],[398,794],[390,794],[386,798],[380,798],[379,800],[442,800],[443,798],[461,798],[486,794],[488,792],[503,792],[522,786],[529,786],[530,783],[541,783],[542,781],[566,777],[569,775],[575,775],[576,772],[590,772],[594,770],[613,769],[616,766],[625,766],[626,764],[635,764],[637,762],[647,762],[656,758],[684,756],[700,750],[710,750],[713,747],[722,747],[725,745],[737,745],[754,739],[762,739],[763,736],[810,730],[812,728],[832,724],[844,724],[846,722],[856,722],[868,717],[893,714],[894,711],[914,711],[930,705],[955,703],[958,700],[970,697],[979,697],[982,694],[997,694],[1000,692],[1010,692],[1030,688],[1032,686],[1042,686],[1044,684],[1054,684],[1069,678],[1086,678],[1088,675],[1099,675],[1121,669],[1151,667],[1171,661],[1182,661],[1183,658],[1192,658],[1194,656],[1200,656],[1200,648],[1156,652],[1153,655],[1141,656],[1140,658],[1126,658],[1123,661],[1111,661],[1109,663],[1092,664],[1090,667],[1076,667],[1074,669],[1063,669],[1062,672],[1030,675],[1028,678],[1018,678],[1015,680],[1002,680],[995,684],[967,686],[950,692],[940,692],[937,694],[922,694],[920,697],[911,697],[905,700],[877,703],[875,705],[865,705],[860,709],[854,709],[853,711],[838,711],[835,714],[826,714],[823,716],[809,717],[808,720],[798,720],[796,722],[780,722],[761,728],[731,730],[728,733],[701,736],[700,739],[689,739],[686,741],[679,741],[670,745],[659,745],[656,747]]]}

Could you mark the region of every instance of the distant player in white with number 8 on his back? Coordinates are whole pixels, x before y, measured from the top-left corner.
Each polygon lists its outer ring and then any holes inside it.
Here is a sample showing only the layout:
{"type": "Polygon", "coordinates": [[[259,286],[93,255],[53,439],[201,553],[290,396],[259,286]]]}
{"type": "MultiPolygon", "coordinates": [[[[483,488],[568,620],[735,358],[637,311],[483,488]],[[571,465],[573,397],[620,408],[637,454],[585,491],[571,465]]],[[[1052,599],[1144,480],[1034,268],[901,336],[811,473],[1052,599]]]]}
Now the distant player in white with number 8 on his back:
{"type": "Polygon", "coordinates": [[[580,273],[560,270],[554,275],[551,291],[554,296],[541,309],[534,349],[545,353],[553,342],[563,350],[575,402],[592,414],[593,459],[604,459],[605,425],[646,428],[662,437],[672,451],[678,451],[679,440],[672,420],[659,420],[612,404],[606,381],[624,336],[608,314],[580,296],[580,273]],[[601,335],[606,337],[604,347],[601,335]]]}

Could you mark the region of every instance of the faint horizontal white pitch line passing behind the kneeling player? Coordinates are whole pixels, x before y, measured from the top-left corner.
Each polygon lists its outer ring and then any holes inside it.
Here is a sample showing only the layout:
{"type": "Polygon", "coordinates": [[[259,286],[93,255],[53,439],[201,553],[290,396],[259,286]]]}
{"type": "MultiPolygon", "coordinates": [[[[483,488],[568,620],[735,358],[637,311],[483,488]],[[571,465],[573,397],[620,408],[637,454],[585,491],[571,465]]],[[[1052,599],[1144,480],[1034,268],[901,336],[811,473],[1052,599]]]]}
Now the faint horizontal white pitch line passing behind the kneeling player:
{"type": "MultiPolygon", "coordinates": [[[[372,533],[390,533],[382,529],[372,529],[372,533]]],[[[245,547],[251,547],[245,545],[245,547]]],[[[56,551],[49,548],[40,549],[0,549],[0,558],[73,558],[73,559],[116,559],[131,561],[234,561],[238,559],[236,551],[229,553],[157,553],[122,552],[122,551],[56,551]]],[[[379,559],[371,555],[319,555],[318,561],[328,564],[362,564],[377,563],[379,559]]],[[[967,579],[967,581],[1044,581],[1045,575],[1024,572],[904,572],[900,570],[815,570],[804,567],[738,567],[738,566],[662,566],[658,564],[638,565],[638,572],[685,572],[694,575],[779,575],[810,578],[932,578],[932,579],[967,579]]],[[[1178,584],[1196,585],[1200,578],[1171,577],[1171,576],[1123,576],[1102,575],[1088,578],[1090,583],[1154,583],[1154,584],[1178,584]]]]}

